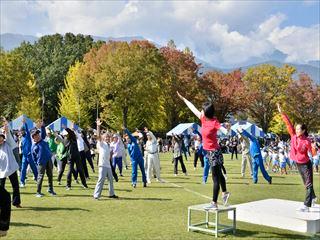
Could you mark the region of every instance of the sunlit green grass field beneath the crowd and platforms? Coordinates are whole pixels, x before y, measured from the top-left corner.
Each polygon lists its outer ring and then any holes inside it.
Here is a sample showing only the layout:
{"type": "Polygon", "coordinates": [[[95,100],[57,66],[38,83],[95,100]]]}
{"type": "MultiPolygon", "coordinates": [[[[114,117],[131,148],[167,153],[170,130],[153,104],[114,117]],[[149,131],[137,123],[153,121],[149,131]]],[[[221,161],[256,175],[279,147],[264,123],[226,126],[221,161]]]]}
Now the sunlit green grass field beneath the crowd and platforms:
{"type": "MultiPolygon", "coordinates": [[[[192,160],[186,162],[188,176],[180,172],[175,177],[171,154],[161,154],[162,178],[168,182],[153,181],[148,188],[142,187],[141,174],[138,173],[139,182],[133,189],[131,170],[124,170],[124,177],[115,183],[119,199],[107,198],[107,190],[104,190],[99,201],[93,200],[97,174],[91,172],[89,189],[73,182],[72,190],[66,191],[55,181],[56,197],[46,194],[43,198],[36,198],[36,185],[29,180],[26,188],[21,189],[23,208],[13,208],[10,231],[4,239],[212,239],[212,235],[187,232],[187,207],[209,200],[186,189],[209,197],[212,195],[211,178],[208,184],[201,184],[202,169],[199,167],[194,171],[192,160]]],[[[272,173],[272,185],[259,175],[259,184],[254,185],[249,177],[241,177],[241,160],[231,161],[230,156],[225,155],[225,166],[228,171],[227,188],[232,194],[230,204],[266,198],[304,199],[304,186],[297,173],[287,176],[272,173]]],[[[29,179],[32,179],[31,175],[29,179]]],[[[320,196],[319,182],[319,175],[315,175],[317,196],[320,196]]],[[[6,186],[11,191],[9,180],[6,186]]],[[[44,193],[46,187],[45,177],[44,193]]],[[[220,236],[230,239],[320,239],[319,234],[304,235],[243,222],[237,222],[236,235],[220,236]]]]}

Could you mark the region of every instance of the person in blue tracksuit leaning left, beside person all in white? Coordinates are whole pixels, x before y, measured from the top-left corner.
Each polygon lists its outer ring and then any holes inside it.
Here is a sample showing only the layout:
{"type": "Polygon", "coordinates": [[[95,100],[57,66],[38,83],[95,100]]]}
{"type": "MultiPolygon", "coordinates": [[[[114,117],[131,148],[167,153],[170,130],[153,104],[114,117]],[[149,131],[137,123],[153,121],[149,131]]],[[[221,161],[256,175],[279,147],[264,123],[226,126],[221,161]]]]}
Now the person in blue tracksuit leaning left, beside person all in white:
{"type": "Polygon", "coordinates": [[[132,134],[129,132],[128,129],[123,127],[124,132],[126,133],[126,141],[128,143],[128,153],[130,155],[131,159],[131,166],[132,166],[132,186],[135,188],[137,185],[137,167],[139,165],[140,171],[142,173],[142,182],[143,187],[147,187],[147,178],[146,178],[146,172],[144,169],[144,160],[142,157],[141,150],[139,148],[139,144],[137,142],[137,139],[132,136],[132,134]]]}

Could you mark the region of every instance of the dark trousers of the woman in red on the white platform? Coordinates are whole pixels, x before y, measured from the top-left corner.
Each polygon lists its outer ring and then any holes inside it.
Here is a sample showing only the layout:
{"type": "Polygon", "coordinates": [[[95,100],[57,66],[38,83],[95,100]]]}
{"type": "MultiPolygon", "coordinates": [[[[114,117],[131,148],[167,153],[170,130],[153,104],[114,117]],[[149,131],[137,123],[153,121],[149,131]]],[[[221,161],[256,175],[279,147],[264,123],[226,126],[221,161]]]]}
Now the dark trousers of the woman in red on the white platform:
{"type": "Polygon", "coordinates": [[[311,207],[312,199],[316,198],[316,194],[313,189],[313,172],[312,172],[312,163],[297,163],[298,171],[301,175],[304,186],[306,187],[306,198],[304,205],[311,207]]]}

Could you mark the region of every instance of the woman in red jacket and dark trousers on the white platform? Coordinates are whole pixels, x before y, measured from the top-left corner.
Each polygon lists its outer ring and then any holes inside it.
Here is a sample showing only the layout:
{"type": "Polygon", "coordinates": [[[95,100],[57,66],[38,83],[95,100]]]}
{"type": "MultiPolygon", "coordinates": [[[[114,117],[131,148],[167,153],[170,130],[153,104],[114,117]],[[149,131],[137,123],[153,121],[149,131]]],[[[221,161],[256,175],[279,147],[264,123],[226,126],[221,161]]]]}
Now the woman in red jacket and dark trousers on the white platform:
{"type": "Polygon", "coordinates": [[[290,158],[297,163],[299,173],[306,187],[304,206],[297,210],[308,212],[309,207],[311,207],[317,199],[313,189],[312,163],[308,156],[308,152],[311,152],[311,141],[308,139],[308,129],[305,124],[297,124],[294,128],[288,116],[282,112],[279,104],[278,110],[282,115],[282,119],[291,137],[290,158]]]}

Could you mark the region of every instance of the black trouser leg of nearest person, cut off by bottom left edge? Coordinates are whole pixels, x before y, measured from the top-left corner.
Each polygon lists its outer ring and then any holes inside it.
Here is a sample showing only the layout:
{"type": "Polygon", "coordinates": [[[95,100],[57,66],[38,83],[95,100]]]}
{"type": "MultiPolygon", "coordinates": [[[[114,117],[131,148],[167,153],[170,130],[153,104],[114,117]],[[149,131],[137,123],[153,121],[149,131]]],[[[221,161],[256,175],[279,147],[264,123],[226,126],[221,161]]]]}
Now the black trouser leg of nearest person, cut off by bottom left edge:
{"type": "Polygon", "coordinates": [[[10,193],[0,186],[0,231],[8,231],[11,216],[10,193]]]}

